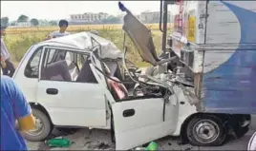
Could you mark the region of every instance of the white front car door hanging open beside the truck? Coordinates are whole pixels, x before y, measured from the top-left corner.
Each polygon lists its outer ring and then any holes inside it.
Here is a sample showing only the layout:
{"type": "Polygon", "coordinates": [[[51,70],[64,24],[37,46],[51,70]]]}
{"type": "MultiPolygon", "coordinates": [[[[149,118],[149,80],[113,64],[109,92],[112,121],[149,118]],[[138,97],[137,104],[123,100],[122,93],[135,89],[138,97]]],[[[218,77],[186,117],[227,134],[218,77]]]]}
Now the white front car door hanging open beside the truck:
{"type": "Polygon", "coordinates": [[[116,149],[128,150],[168,136],[176,130],[179,105],[176,95],[112,104],[116,149]],[[165,107],[164,107],[165,105],[165,107]]]}

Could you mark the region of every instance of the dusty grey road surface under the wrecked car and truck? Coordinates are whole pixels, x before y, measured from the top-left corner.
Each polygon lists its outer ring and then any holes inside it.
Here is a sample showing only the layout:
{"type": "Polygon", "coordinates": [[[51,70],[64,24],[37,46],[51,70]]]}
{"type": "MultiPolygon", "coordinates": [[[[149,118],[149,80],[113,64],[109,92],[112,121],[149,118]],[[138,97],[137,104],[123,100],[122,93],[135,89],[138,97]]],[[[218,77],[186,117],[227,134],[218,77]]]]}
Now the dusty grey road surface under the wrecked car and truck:
{"type": "MultiPolygon", "coordinates": [[[[239,140],[231,140],[225,143],[223,146],[218,147],[198,147],[191,146],[189,144],[181,145],[179,138],[167,137],[158,140],[160,150],[246,150],[247,143],[256,131],[256,116],[252,118],[251,129],[239,140]]],[[[111,142],[110,132],[108,130],[89,130],[80,129],[71,134],[72,131],[55,131],[55,135],[64,135],[64,138],[75,142],[69,148],[61,148],[61,150],[93,150],[93,149],[105,149],[114,150],[115,145],[111,142]]],[[[45,145],[45,142],[28,142],[31,150],[60,150],[60,148],[49,148],[45,145]]]]}

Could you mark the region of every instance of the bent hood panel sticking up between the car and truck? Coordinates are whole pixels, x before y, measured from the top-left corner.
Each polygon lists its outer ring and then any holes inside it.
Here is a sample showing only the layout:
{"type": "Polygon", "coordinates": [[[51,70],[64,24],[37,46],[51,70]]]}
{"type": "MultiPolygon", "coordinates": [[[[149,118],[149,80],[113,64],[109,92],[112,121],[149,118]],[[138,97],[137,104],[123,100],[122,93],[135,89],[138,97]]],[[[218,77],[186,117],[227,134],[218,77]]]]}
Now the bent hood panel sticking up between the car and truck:
{"type": "Polygon", "coordinates": [[[122,29],[138,48],[141,58],[152,66],[157,66],[160,60],[154,47],[151,32],[130,11],[127,11],[123,18],[122,29]]]}

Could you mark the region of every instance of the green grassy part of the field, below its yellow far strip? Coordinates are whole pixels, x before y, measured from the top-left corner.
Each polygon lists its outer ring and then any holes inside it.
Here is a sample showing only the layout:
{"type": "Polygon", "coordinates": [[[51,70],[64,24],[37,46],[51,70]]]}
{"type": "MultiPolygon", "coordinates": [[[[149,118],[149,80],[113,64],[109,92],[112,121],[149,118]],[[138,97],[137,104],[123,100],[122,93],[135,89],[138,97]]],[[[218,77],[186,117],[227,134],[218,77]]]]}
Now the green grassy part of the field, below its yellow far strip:
{"type": "MultiPolygon", "coordinates": [[[[81,30],[72,31],[73,33],[79,32],[81,30]]],[[[123,31],[121,29],[113,29],[113,30],[104,30],[100,29],[99,35],[112,41],[117,47],[122,50],[123,49],[123,31]]],[[[4,41],[11,53],[11,60],[18,65],[24,54],[27,52],[29,47],[32,45],[43,41],[49,31],[26,31],[21,33],[10,33],[7,32],[4,37],[4,41]]],[[[152,30],[152,36],[155,43],[155,47],[158,52],[160,52],[160,43],[161,43],[161,34],[160,30],[152,30]]],[[[139,53],[136,47],[132,44],[129,38],[126,40],[126,44],[128,46],[127,58],[135,63],[137,66],[146,66],[147,64],[142,63],[139,53]]]]}

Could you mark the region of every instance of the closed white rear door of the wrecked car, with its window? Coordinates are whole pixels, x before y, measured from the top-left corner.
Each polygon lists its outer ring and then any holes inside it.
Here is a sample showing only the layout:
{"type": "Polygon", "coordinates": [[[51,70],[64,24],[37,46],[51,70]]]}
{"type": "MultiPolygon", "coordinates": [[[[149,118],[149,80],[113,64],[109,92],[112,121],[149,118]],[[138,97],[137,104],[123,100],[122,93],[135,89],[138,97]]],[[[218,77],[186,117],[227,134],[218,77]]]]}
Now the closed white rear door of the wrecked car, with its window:
{"type": "MultiPolygon", "coordinates": [[[[72,66],[72,60],[68,60],[68,58],[72,58],[70,56],[64,56],[64,60],[63,58],[61,60],[56,59],[56,62],[51,60],[51,64],[48,65],[47,63],[50,63],[48,58],[53,58],[53,56],[49,55],[51,54],[51,50],[55,52],[65,51],[82,54],[85,57],[88,57],[89,53],[80,52],[71,48],[44,47],[39,69],[37,101],[49,112],[53,124],[92,127],[106,126],[106,102],[102,87],[96,81],[80,82],[76,81],[77,78],[76,80],[73,79],[73,77],[79,77],[79,75],[69,76],[68,73],[74,74],[75,72],[75,69],[70,67],[72,66]],[[56,66],[58,64],[60,66],[56,66]],[[68,68],[61,69],[65,68],[63,66],[68,66],[68,68]],[[66,78],[63,78],[65,76],[66,78]]],[[[67,55],[68,53],[62,54],[67,55]]],[[[90,69],[88,67],[84,68],[90,69]]],[[[78,74],[81,72],[79,71],[78,74]]],[[[83,71],[83,73],[91,72],[90,70],[83,71]]],[[[87,78],[89,77],[89,79],[92,76],[94,75],[87,74],[87,78]]]]}

